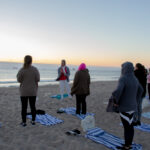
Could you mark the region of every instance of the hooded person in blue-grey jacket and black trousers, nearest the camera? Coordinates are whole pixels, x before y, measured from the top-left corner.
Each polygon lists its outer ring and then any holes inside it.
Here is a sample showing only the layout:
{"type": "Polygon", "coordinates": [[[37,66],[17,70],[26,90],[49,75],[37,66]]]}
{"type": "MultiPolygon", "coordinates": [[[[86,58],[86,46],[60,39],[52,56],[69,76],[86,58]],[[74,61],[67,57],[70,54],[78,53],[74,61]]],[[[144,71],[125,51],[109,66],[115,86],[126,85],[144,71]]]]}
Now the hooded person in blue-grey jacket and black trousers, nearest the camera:
{"type": "Polygon", "coordinates": [[[112,93],[124,127],[125,144],[117,148],[129,150],[134,137],[134,115],[138,111],[143,89],[134,75],[131,62],[123,63],[121,72],[117,89],[112,93]]]}

